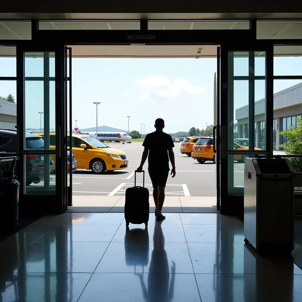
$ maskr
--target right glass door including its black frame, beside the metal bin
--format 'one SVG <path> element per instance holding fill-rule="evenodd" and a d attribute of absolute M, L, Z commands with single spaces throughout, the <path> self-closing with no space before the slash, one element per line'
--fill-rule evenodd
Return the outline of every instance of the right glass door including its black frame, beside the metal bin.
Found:
<path fill-rule="evenodd" d="M 272 133 L 268 131 L 271 128 L 272 132 L 272 125 L 267 118 L 272 114 L 272 89 L 267 90 L 266 85 L 268 61 L 265 49 L 262 46 L 258 50 L 236 51 L 236 47 L 221 47 L 221 112 L 227 114 L 221 114 L 220 170 L 224 171 L 221 190 L 226 195 L 243 195 L 246 158 L 252 154 L 270 154 L 272 149 Z"/>

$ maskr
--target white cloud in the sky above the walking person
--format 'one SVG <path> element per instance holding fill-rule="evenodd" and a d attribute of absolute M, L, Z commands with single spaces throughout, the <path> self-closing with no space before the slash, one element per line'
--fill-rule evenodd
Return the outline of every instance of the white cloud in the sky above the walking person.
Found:
<path fill-rule="evenodd" d="M 191 85 L 181 78 L 170 80 L 164 76 L 152 75 L 149 78 L 136 79 L 135 83 L 144 92 L 140 99 L 148 100 L 154 98 L 171 99 L 184 95 L 198 95 L 204 92 L 200 86 Z"/>

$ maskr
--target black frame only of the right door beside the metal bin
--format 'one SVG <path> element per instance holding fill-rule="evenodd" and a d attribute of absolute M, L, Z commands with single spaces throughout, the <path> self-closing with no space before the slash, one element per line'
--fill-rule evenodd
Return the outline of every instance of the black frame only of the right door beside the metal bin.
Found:
<path fill-rule="evenodd" d="M 265 51 L 265 150 L 252 152 L 272 156 L 273 141 L 273 55 L 274 43 L 268 40 L 257 40 L 250 43 L 222 43 L 220 52 L 220 211 L 221 214 L 236 214 L 239 217 L 243 215 L 242 194 L 229 194 L 228 192 L 228 155 L 236 154 L 228 150 L 228 93 L 229 93 L 229 52 L 237 51 Z M 249 63 L 250 64 L 250 63 Z M 249 68 L 251 66 L 249 65 Z M 255 103 L 255 101 L 253 101 Z M 250 106 L 252 107 L 252 106 Z M 249 127 L 251 128 L 251 127 Z M 251 130 L 251 129 L 250 129 Z M 253 130 L 253 128 L 252 128 Z M 237 152 L 238 153 L 238 152 Z M 249 153 L 251 151 L 240 151 L 240 153 Z M 217 191 L 218 193 L 218 191 Z"/>

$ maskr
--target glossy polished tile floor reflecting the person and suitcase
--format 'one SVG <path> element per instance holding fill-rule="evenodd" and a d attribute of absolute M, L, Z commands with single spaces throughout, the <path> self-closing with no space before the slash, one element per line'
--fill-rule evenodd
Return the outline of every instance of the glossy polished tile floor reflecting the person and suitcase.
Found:
<path fill-rule="evenodd" d="M 123 213 L 43 217 L 0 243 L 0 301 L 302 301 L 293 258 L 243 239 L 220 214 L 150 215 L 148 229 Z"/>

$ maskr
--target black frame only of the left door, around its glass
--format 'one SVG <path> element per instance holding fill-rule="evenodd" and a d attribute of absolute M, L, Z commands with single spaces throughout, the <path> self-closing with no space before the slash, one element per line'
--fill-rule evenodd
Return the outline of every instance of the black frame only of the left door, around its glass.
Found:
<path fill-rule="evenodd" d="M 56 189 L 55 194 L 26 194 L 25 192 L 25 169 L 24 156 L 32 151 L 24 150 L 25 133 L 25 52 L 53 52 L 55 53 L 55 127 L 56 127 L 56 150 L 38 150 L 37 154 L 56 155 Z M 37 43 L 35 41 L 22 41 L 16 43 L 16 73 L 17 73 L 17 152 L 20 155 L 17 174 L 21 183 L 20 188 L 20 212 L 22 214 L 60 214 L 66 208 L 67 178 L 67 153 L 64 145 L 65 140 L 65 115 L 64 115 L 64 58 L 65 48 L 63 44 Z M 33 198 L 34 196 L 34 198 Z M 39 198 L 40 197 L 40 198 Z"/>

